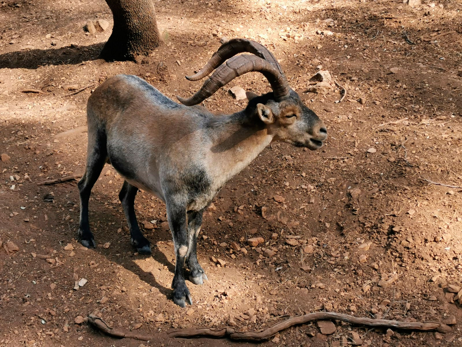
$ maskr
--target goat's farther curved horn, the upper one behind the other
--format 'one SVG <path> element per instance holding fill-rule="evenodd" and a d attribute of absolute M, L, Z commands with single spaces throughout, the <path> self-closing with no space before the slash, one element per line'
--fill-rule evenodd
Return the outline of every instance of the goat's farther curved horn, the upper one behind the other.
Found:
<path fill-rule="evenodd" d="M 274 65 L 274 67 L 279 70 L 280 74 L 284 74 L 276 58 L 274 58 L 273 54 L 265 46 L 245 38 L 235 38 L 223 43 L 197 74 L 186 76 L 186 78 L 189 81 L 199 81 L 208 76 L 214 69 L 219 67 L 226 60 L 242 52 L 249 52 L 255 54 L 255 56 L 259 56 Z"/>

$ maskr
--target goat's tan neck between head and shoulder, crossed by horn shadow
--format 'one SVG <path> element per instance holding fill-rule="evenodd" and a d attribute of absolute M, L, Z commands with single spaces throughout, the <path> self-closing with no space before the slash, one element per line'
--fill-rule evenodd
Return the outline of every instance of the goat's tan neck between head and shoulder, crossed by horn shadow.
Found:
<path fill-rule="evenodd" d="M 249 165 L 274 137 L 266 127 L 251 124 L 243 112 L 214 120 L 209 129 L 208 172 L 218 186 Z"/>

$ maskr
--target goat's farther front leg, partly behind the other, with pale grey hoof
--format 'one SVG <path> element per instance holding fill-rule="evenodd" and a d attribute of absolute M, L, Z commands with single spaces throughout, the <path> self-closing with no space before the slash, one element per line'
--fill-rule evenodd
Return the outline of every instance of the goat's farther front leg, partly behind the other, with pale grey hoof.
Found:
<path fill-rule="evenodd" d="M 197 261 L 197 236 L 201 231 L 203 211 L 188 211 L 188 254 L 186 255 L 186 264 L 189 268 L 189 280 L 195 285 L 207 281 L 207 275 L 204 269 Z"/>

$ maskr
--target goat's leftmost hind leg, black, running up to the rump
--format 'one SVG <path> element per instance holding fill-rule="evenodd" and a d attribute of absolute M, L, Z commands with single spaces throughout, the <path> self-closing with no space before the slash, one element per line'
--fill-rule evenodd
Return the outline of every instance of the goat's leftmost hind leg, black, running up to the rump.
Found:
<path fill-rule="evenodd" d="M 107 159 L 105 136 L 102 134 L 91 136 L 89 132 L 85 174 L 77 184 L 80 196 L 79 238 L 82 245 L 88 248 L 96 248 L 93 234 L 90 231 L 90 224 L 88 223 L 88 200 L 90 199 L 91 188 L 93 188 L 99 174 L 101 174 Z"/>

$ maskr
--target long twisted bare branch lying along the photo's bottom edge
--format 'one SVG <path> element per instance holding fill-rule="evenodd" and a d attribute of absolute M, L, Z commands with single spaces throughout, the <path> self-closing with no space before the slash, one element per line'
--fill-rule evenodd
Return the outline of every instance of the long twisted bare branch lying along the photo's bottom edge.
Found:
<path fill-rule="evenodd" d="M 334 319 L 337 321 L 349 322 L 352 324 L 366 325 L 371 327 L 383 327 L 383 328 L 398 328 L 402 330 L 419 330 L 419 331 L 432 331 L 437 330 L 440 333 L 449 333 L 452 329 L 446 324 L 439 322 L 398 322 L 385 319 L 371 319 L 371 318 L 360 318 L 350 315 L 345 315 L 342 313 L 335 312 L 314 312 L 309 313 L 304 316 L 296 316 L 288 318 L 280 323 L 275 324 L 274 326 L 267 328 L 266 330 L 256 332 L 256 331 L 246 331 L 244 333 L 238 333 L 233 328 L 225 327 L 219 330 L 213 330 L 210 328 L 190 328 L 184 330 L 173 330 L 170 331 L 168 337 L 183 337 L 183 338 L 192 338 L 192 337 L 228 337 L 231 340 L 238 341 L 266 341 L 279 333 L 280 331 L 290 328 L 293 325 L 304 324 L 311 321 L 324 320 L 324 319 Z M 154 335 L 144 335 L 144 334 L 135 334 L 129 330 L 120 329 L 120 328 L 110 328 L 103 319 L 90 315 L 88 316 L 88 322 L 93 325 L 95 328 L 103 331 L 105 334 L 120 337 L 120 338 L 132 338 L 141 341 L 149 341 L 155 338 Z"/>

